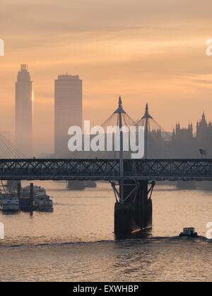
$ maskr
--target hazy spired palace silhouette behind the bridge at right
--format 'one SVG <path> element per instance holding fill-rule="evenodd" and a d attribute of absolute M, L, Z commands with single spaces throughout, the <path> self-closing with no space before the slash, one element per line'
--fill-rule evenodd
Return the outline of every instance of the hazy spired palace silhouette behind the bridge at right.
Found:
<path fill-rule="evenodd" d="M 196 132 L 192 123 L 187 128 L 177 123 L 169 140 L 165 140 L 163 133 L 161 129 L 150 132 L 148 158 L 212 157 L 212 122 L 207 122 L 205 113 L 196 123 Z"/>

